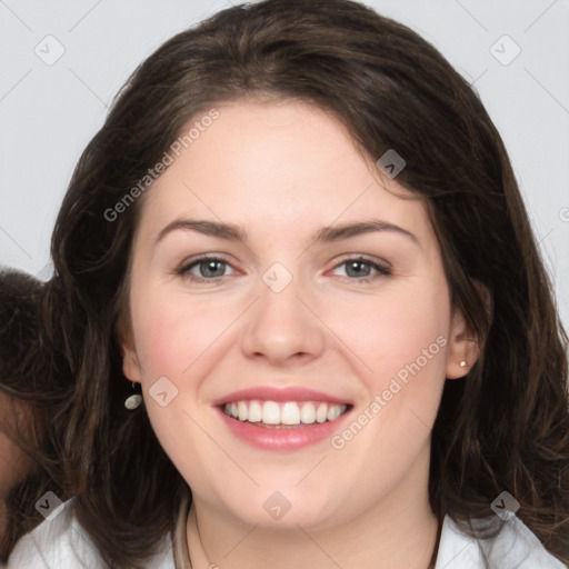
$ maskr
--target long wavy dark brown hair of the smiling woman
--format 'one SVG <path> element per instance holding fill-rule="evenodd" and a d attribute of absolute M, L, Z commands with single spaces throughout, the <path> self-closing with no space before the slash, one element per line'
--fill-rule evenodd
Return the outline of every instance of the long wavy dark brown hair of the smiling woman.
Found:
<path fill-rule="evenodd" d="M 106 561 L 141 567 L 172 530 L 184 488 L 144 409 L 123 408 L 116 331 L 137 197 L 152 191 L 140 180 L 190 119 L 251 97 L 313 103 L 373 160 L 396 149 L 407 161 L 397 181 L 427 200 L 452 303 L 480 349 L 466 380 L 445 386 L 432 510 L 475 533 L 468 520 L 498 519 L 490 505 L 507 490 L 517 516 L 569 562 L 568 339 L 506 148 L 431 44 L 349 0 L 237 6 L 179 33 L 136 70 L 79 160 L 52 239 L 64 296 L 49 312 L 77 379 L 64 446 L 78 517 Z"/>

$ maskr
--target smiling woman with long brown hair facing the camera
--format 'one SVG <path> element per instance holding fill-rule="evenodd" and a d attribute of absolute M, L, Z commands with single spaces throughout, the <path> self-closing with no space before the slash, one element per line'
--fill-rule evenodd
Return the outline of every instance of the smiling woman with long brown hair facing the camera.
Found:
<path fill-rule="evenodd" d="M 76 497 L 9 567 L 569 561 L 567 336 L 496 128 L 406 27 L 268 0 L 172 38 L 52 256 Z"/>

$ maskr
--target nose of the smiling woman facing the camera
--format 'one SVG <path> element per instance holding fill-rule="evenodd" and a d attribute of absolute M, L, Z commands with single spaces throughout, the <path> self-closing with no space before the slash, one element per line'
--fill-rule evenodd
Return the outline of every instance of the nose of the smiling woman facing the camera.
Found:
<path fill-rule="evenodd" d="M 318 358 L 326 343 L 326 326 L 316 297 L 296 278 L 280 291 L 267 282 L 260 281 L 259 298 L 247 311 L 243 353 L 280 367 Z"/>

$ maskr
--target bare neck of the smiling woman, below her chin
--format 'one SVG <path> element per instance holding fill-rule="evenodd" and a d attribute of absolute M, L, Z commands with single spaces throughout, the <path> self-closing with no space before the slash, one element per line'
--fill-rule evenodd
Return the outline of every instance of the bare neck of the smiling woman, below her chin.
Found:
<path fill-rule="evenodd" d="M 427 472 L 425 482 L 428 466 L 428 459 L 423 460 L 413 465 L 410 473 Z M 308 530 L 298 523 L 277 529 L 248 526 L 198 497 L 187 523 L 192 569 L 430 569 L 435 567 L 438 532 L 427 483 L 418 485 L 413 476 L 349 521 L 321 529 Z"/>

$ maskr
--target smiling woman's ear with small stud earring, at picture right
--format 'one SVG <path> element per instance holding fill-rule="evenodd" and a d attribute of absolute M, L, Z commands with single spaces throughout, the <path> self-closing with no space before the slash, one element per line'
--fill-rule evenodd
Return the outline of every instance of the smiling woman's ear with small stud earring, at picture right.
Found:
<path fill-rule="evenodd" d="M 486 310 L 491 313 L 492 300 L 489 290 L 479 281 L 475 281 L 473 284 L 485 302 Z M 462 378 L 472 369 L 480 355 L 478 342 L 479 339 L 468 326 L 465 315 L 456 309 L 452 313 L 452 329 L 447 351 L 447 379 Z"/>

